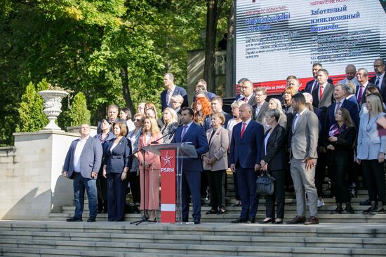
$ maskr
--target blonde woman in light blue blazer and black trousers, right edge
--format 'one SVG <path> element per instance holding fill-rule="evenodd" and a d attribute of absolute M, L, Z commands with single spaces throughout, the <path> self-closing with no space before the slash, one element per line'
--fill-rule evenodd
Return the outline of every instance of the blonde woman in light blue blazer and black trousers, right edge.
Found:
<path fill-rule="evenodd" d="M 385 116 L 382 102 L 376 95 L 366 97 L 368 113 L 361 114 L 359 125 L 357 162 L 362 164 L 371 207 L 364 214 L 383 213 L 385 202 L 385 172 L 383 162 L 386 153 L 386 137 L 379 136 L 376 121 Z M 378 201 L 378 206 L 375 202 Z"/>

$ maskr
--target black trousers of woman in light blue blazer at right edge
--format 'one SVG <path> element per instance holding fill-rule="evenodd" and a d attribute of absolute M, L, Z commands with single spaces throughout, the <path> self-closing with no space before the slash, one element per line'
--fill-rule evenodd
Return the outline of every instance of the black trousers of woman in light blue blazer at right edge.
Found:
<path fill-rule="evenodd" d="M 385 171 L 383 162 L 377 160 L 361 160 L 366 177 L 368 197 L 371 201 L 385 202 Z"/>

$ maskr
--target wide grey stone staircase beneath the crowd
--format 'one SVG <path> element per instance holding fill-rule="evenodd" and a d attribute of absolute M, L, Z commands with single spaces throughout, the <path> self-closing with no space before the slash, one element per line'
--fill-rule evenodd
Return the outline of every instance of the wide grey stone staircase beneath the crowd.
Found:
<path fill-rule="evenodd" d="M 227 212 L 207 215 L 210 207 L 202 207 L 199 225 L 128 222 L 141 214 L 126 214 L 121 223 L 107 222 L 107 214 L 96 223 L 65 222 L 74 207 L 47 221 L 0 221 L 0 256 L 386 256 L 386 214 L 361 213 L 365 190 L 352 199 L 355 214 L 331 215 L 335 200 L 324 197 L 319 225 L 232 224 L 241 207 L 233 207 L 229 174 L 228 190 Z M 295 197 L 286 193 L 284 220 L 293 216 Z M 256 218 L 264 217 L 261 198 Z"/>

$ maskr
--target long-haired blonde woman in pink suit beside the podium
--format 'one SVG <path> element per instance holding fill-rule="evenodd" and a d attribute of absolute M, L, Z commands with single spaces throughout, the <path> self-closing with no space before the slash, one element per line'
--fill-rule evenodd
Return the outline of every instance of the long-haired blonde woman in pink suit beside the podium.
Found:
<path fill-rule="evenodd" d="M 162 144 L 161 132 L 157 125 L 155 118 L 145 118 L 143 132 L 139 140 L 139 149 L 148 146 L 152 141 Z M 159 140 L 160 139 L 160 140 Z M 138 159 L 140 160 L 140 190 L 141 190 L 141 204 L 140 209 L 145 209 L 145 216 L 148 218 L 149 214 L 147 210 L 152 210 L 149 220 L 155 221 L 156 210 L 159 209 L 159 171 L 161 169 L 161 163 L 159 161 L 159 155 L 145 152 L 145 158 L 143 152 L 138 153 Z M 145 178 L 143 176 L 143 166 L 145 165 Z M 145 188 L 143 188 L 143 180 L 145 179 Z M 145 204 L 144 204 L 145 202 Z"/>

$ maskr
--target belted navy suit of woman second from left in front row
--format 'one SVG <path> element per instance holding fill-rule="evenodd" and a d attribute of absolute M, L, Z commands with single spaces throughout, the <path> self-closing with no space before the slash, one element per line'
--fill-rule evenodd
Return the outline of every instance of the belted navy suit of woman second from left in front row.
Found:
<path fill-rule="evenodd" d="M 121 176 L 125 167 L 131 167 L 131 142 L 122 137 L 112 151 L 115 139 L 109 141 L 105 153 L 105 165 L 107 165 L 107 212 L 109 221 L 124 221 L 126 190 L 128 179 L 122 181 Z"/>

